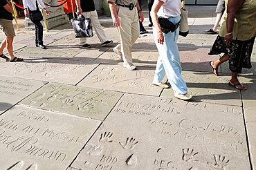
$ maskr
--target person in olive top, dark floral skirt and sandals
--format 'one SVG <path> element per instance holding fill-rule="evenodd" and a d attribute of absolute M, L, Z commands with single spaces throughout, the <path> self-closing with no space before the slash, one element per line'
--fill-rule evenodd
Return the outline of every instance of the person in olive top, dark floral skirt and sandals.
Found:
<path fill-rule="evenodd" d="M 229 62 L 231 79 L 228 84 L 238 90 L 246 91 L 247 87 L 240 84 L 238 74 L 242 68 L 251 68 L 250 57 L 256 36 L 256 3 L 255 0 L 226 0 L 227 10 L 219 35 L 214 41 L 208 55 L 224 55 L 210 62 L 214 75 L 219 75 L 218 67 Z"/>

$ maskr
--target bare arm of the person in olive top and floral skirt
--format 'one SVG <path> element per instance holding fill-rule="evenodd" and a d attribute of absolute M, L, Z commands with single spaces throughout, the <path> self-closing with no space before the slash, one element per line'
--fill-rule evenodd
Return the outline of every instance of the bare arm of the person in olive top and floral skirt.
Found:
<path fill-rule="evenodd" d="M 228 1 L 228 6 L 227 6 L 227 21 L 226 21 L 226 36 L 225 36 L 225 41 L 226 44 L 229 45 L 232 41 L 232 31 L 234 27 L 234 22 L 235 22 L 235 14 L 237 13 L 237 10 L 241 7 L 241 4 L 244 3 L 244 0 L 229 0 Z"/>

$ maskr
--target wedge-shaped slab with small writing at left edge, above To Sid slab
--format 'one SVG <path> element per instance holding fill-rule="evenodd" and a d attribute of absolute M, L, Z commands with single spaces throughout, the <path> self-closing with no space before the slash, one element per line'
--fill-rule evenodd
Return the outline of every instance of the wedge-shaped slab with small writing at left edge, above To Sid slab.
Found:
<path fill-rule="evenodd" d="M 46 82 L 0 76 L 0 115 Z"/>

